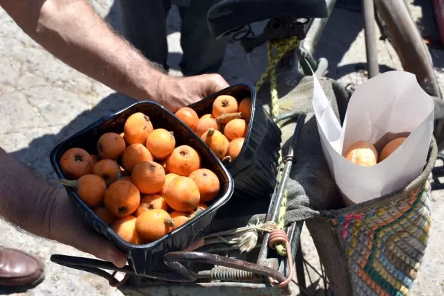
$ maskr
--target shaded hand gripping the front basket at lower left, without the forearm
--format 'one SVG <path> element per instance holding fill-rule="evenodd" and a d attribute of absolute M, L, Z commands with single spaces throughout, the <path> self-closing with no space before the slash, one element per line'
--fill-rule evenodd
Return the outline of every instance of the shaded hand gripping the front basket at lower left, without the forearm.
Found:
<path fill-rule="evenodd" d="M 43 224 L 49 229 L 44 232 L 47 238 L 110 261 L 117 267 L 124 267 L 126 255 L 81 220 L 65 191 L 54 188 L 46 198 L 50 200 Z"/>

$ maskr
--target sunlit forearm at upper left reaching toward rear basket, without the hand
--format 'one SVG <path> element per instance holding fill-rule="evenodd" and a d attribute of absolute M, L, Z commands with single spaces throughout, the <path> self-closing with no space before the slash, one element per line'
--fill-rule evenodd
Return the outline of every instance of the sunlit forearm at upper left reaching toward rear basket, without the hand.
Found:
<path fill-rule="evenodd" d="M 0 0 L 0 5 L 25 33 L 69 66 L 117 92 L 158 101 L 164 74 L 85 0 Z"/>

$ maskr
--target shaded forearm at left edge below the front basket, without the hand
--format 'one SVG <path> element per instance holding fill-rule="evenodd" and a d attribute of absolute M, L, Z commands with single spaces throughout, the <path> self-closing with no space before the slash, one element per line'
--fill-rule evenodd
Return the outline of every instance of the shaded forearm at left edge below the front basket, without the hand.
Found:
<path fill-rule="evenodd" d="M 56 190 L 0 148 L 0 218 L 49 237 Z"/>

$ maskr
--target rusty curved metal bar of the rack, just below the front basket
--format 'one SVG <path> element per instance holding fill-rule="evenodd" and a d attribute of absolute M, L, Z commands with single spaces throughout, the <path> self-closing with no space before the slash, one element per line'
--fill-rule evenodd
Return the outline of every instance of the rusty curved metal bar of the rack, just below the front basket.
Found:
<path fill-rule="evenodd" d="M 167 265 L 172 270 L 178 272 L 183 277 L 188 277 L 188 279 L 192 281 L 195 281 L 198 277 L 196 272 L 188 270 L 185 266 L 179 263 L 179 261 L 208 263 L 211 265 L 224 266 L 227 268 L 246 270 L 254 273 L 255 275 L 263 275 L 265 277 L 270 277 L 272 279 L 275 279 L 279 283 L 286 280 L 286 277 L 284 277 L 281 274 L 281 272 L 274 270 L 272 268 L 268 268 L 266 266 L 259 265 L 256 263 L 231 259 L 216 254 L 183 251 L 183 252 L 170 252 L 165 254 L 165 256 L 163 256 L 163 262 L 165 263 L 165 265 Z"/>

